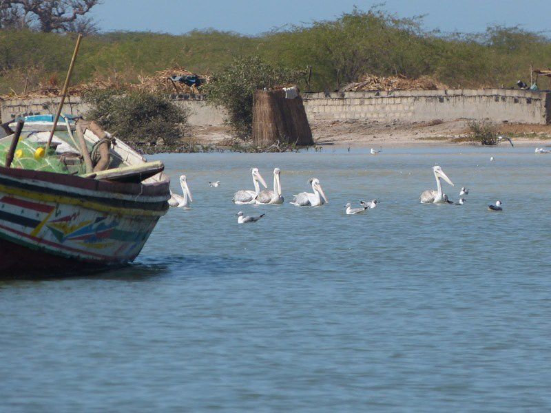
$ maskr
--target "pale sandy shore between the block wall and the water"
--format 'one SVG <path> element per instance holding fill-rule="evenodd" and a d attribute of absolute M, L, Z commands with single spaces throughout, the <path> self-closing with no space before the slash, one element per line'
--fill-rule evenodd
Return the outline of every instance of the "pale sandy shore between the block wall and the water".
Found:
<path fill-rule="evenodd" d="M 473 145 L 468 120 L 429 123 L 376 123 L 361 121 L 324 121 L 311 124 L 316 145 L 340 147 L 399 147 L 417 145 Z M 551 125 L 502 123 L 499 133 L 510 136 L 515 145 L 551 146 Z M 194 127 L 187 140 L 202 145 L 223 145 L 231 140 L 227 127 Z"/>

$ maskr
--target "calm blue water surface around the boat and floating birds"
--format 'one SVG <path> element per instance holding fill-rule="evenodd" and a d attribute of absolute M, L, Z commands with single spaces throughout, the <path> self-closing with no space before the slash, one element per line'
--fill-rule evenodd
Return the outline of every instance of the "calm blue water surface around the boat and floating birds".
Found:
<path fill-rule="evenodd" d="M 551 409 L 551 156 L 156 158 L 195 202 L 134 265 L 0 282 L 2 412 Z M 451 199 L 471 189 L 464 207 L 418 203 L 435 162 Z M 329 204 L 233 205 L 253 166 L 270 187 L 282 169 L 286 202 L 316 176 Z M 344 215 L 371 198 L 380 207 Z M 486 211 L 497 199 L 505 211 Z M 267 215 L 238 226 L 240 209 Z"/>

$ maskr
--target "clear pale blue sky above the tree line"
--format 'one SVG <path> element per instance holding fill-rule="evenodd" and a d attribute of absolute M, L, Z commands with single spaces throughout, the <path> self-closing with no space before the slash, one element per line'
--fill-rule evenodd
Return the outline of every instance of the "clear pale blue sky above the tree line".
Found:
<path fill-rule="evenodd" d="M 258 34 L 286 24 L 333 19 L 370 0 L 103 0 L 93 9 L 101 30 L 149 30 L 180 34 L 215 28 Z M 444 32 L 480 32 L 488 24 L 550 28 L 551 0 L 387 0 L 400 17 L 426 14 L 425 27 Z"/>

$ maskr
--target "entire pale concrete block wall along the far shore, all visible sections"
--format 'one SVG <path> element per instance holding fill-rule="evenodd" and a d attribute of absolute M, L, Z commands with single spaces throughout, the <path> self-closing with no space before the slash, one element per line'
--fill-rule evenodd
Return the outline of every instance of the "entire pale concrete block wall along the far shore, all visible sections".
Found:
<path fill-rule="evenodd" d="M 426 122 L 435 119 L 485 119 L 511 123 L 551 123 L 551 92 L 520 89 L 457 89 L 304 93 L 304 108 L 315 120 L 377 120 Z M 190 110 L 194 126 L 221 126 L 225 114 L 206 105 L 203 96 L 174 96 Z M 59 98 L 0 100 L 2 122 L 25 114 L 55 113 Z M 87 105 L 78 97 L 65 100 L 63 113 L 79 115 Z"/>

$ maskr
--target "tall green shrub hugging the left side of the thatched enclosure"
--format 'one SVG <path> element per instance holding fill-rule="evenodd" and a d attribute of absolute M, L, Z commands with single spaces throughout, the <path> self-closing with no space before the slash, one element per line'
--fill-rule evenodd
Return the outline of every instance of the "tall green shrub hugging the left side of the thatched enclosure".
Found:
<path fill-rule="evenodd" d="M 300 76 L 301 72 L 272 65 L 260 56 L 245 56 L 222 67 L 203 90 L 209 104 L 226 109 L 233 136 L 248 139 L 253 125 L 253 93 L 264 87 L 296 83 Z"/>

